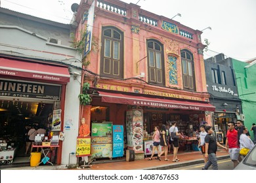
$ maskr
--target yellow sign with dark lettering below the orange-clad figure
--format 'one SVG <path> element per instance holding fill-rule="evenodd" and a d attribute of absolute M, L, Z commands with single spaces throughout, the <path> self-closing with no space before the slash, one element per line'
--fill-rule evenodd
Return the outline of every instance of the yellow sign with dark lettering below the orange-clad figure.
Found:
<path fill-rule="evenodd" d="M 90 137 L 77 137 L 76 140 L 76 154 L 77 156 L 91 155 L 91 138 Z"/>

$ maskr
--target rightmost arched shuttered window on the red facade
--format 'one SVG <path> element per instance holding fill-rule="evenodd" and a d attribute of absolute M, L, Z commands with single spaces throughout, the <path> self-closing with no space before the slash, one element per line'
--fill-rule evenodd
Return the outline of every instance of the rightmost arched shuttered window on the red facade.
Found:
<path fill-rule="evenodd" d="M 181 50 L 183 87 L 188 90 L 196 90 L 194 78 L 194 59 L 191 52 Z"/>

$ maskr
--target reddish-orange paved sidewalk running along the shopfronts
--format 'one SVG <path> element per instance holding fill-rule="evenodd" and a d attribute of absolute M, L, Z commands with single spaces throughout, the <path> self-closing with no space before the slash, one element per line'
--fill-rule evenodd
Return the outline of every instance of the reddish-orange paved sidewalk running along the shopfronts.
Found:
<path fill-rule="evenodd" d="M 155 158 L 155 157 L 154 157 Z M 81 169 L 76 168 L 72 170 L 163 170 L 163 169 L 174 169 L 177 167 L 184 167 L 188 165 L 194 165 L 198 163 L 203 163 L 203 157 L 201 152 L 192 151 L 192 152 L 179 152 L 178 158 L 179 162 L 172 162 L 173 154 L 168 154 L 168 159 L 170 161 L 163 161 L 164 157 L 161 157 L 161 161 L 158 159 L 154 159 L 152 161 L 148 161 L 148 158 L 135 160 L 135 161 L 118 161 L 111 163 L 97 163 L 91 165 L 90 168 Z M 225 150 L 217 151 L 217 158 L 219 159 L 227 159 L 229 158 L 228 153 Z M 231 161 L 231 160 L 230 160 Z M 66 165 L 39 165 L 38 167 L 9 167 L 3 170 L 64 170 L 68 169 Z"/>

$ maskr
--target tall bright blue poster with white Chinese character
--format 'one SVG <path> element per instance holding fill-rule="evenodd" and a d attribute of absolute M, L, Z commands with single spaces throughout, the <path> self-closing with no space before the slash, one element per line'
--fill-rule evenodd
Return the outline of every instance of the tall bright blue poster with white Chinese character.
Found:
<path fill-rule="evenodd" d="M 113 125 L 113 158 L 123 157 L 123 125 Z"/>

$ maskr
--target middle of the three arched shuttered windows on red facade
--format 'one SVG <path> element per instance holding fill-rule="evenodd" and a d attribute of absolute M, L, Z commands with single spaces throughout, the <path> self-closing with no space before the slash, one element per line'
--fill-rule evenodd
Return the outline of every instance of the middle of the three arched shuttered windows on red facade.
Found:
<path fill-rule="evenodd" d="M 163 86 L 164 63 L 163 63 L 163 45 L 155 40 L 146 42 L 148 48 L 148 82 Z"/>

